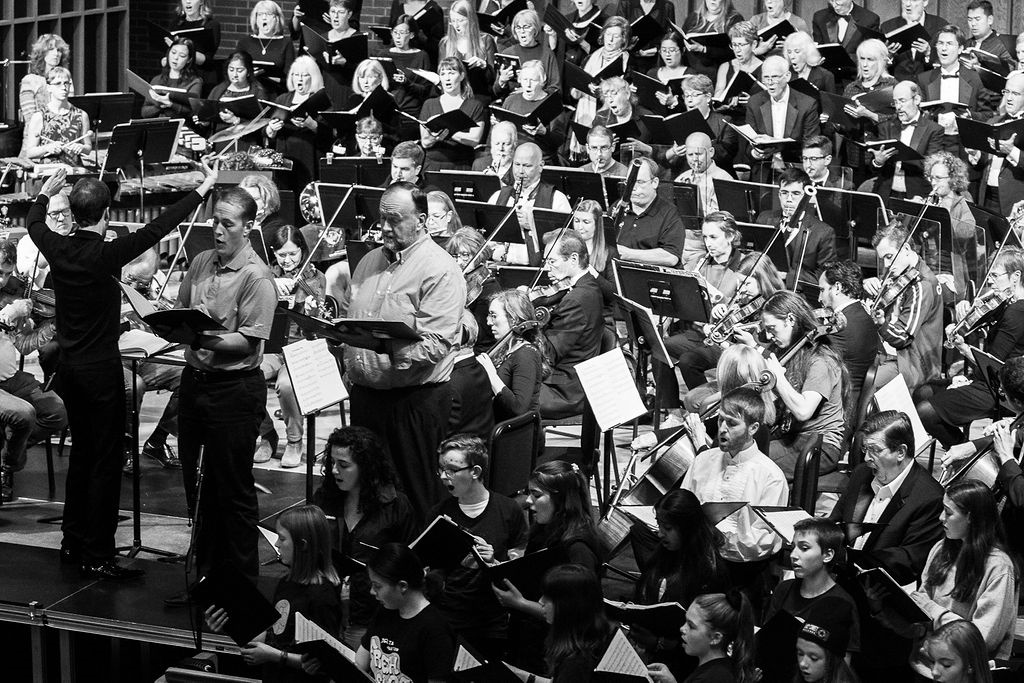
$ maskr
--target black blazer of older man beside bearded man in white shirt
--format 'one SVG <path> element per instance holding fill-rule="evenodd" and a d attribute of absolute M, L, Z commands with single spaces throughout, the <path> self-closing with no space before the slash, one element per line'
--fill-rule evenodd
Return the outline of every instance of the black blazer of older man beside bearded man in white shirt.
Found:
<path fill-rule="evenodd" d="M 863 521 L 867 506 L 874 498 L 873 476 L 867 465 L 857 465 L 829 519 L 848 524 Z M 929 551 L 942 539 L 941 511 L 942 486 L 924 467 L 913 463 L 903 484 L 879 518 L 879 523 L 885 526 L 871 532 L 864 544 L 864 552 L 885 566 L 900 584 L 920 579 Z M 860 536 L 855 525 L 848 526 L 846 533 L 847 543 L 851 545 Z"/>

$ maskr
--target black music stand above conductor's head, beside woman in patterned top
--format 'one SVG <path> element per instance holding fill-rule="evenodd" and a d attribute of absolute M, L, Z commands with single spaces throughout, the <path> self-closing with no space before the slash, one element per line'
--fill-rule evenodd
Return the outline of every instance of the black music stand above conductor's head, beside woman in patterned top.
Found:
<path fill-rule="evenodd" d="M 102 178 L 106 168 L 113 167 L 126 176 L 128 170 L 138 174 L 138 205 L 145 213 L 145 165 L 166 164 L 178 145 L 183 119 L 138 119 L 123 123 L 111 130 L 111 143 L 106 158 L 99 169 Z"/>

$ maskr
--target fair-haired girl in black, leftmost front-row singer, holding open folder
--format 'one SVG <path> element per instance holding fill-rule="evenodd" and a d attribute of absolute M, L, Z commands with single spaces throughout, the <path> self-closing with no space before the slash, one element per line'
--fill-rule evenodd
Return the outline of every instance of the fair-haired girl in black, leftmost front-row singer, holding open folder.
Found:
<path fill-rule="evenodd" d="M 273 591 L 281 620 L 242 648 L 246 664 L 263 667 L 264 681 L 314 680 L 303 673 L 304 657 L 289 652 L 295 644 L 297 613 L 332 635 L 338 633 L 341 582 L 331 561 L 329 528 L 324 511 L 315 505 L 286 510 L 278 518 L 278 552 L 288 567 Z M 216 605 L 206 610 L 207 626 L 215 633 L 223 630 L 227 620 L 226 612 Z"/>

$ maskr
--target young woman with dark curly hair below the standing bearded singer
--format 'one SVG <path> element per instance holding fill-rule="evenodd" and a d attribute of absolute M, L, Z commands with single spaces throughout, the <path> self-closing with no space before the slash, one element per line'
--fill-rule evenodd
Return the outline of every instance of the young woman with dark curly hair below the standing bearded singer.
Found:
<path fill-rule="evenodd" d="M 322 475 L 313 503 L 335 518 L 332 541 L 345 557 L 365 563 L 374 548 L 416 538 L 416 511 L 399 490 L 391 457 L 374 432 L 365 427 L 335 429 L 327 440 Z M 342 640 L 355 649 L 377 601 L 366 569 L 350 570 L 348 581 Z"/>

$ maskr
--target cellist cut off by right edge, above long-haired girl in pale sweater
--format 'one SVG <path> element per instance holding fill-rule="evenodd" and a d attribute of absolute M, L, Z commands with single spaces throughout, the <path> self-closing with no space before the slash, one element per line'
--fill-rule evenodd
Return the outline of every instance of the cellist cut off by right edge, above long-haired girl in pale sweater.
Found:
<path fill-rule="evenodd" d="M 967 464 L 966 458 L 987 452 L 986 459 L 996 468 L 993 488 L 1006 496 L 1000 515 L 1002 523 L 1007 528 L 1019 529 L 1024 520 L 1024 472 L 1018 460 L 1021 437 L 1024 436 L 1024 430 L 1018 426 L 1021 415 L 1024 415 L 1024 357 L 1008 359 L 999 368 L 998 382 L 1014 416 L 993 422 L 985 428 L 981 438 L 949 447 L 942 464 L 955 470 Z M 982 463 L 982 467 L 984 465 Z M 1008 541 L 1018 554 L 1024 549 L 1024 540 L 1019 533 L 1011 533 Z"/>

